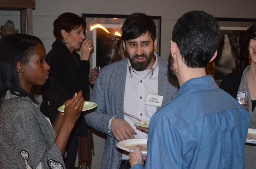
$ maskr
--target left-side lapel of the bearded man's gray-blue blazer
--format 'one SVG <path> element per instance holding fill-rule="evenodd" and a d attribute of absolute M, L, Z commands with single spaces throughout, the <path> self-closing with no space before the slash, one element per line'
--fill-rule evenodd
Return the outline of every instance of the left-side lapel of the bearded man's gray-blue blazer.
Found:
<path fill-rule="evenodd" d="M 124 119 L 124 90 L 126 81 L 128 58 L 121 61 L 116 69 L 116 98 L 120 118 Z"/>

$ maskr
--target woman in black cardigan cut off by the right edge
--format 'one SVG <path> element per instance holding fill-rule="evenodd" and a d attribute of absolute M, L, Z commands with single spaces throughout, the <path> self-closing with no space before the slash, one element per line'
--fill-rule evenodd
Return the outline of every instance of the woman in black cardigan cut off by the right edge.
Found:
<path fill-rule="evenodd" d="M 235 99 L 239 97 L 248 97 L 248 111 L 251 115 L 250 128 L 256 129 L 256 21 L 247 29 L 244 38 L 244 45 L 247 49 L 250 65 L 237 72 L 229 73 L 220 84 L 220 88 L 231 94 Z M 241 95 L 241 94 L 240 94 Z M 256 145 L 245 144 L 244 147 L 244 165 L 245 169 L 255 169 L 256 166 Z"/>

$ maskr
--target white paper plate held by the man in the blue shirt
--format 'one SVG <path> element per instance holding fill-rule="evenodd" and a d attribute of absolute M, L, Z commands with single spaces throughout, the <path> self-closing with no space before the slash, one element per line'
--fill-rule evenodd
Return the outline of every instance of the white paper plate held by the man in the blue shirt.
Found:
<path fill-rule="evenodd" d="M 116 146 L 122 150 L 133 152 L 133 149 L 137 144 L 142 145 L 143 149 L 141 150 L 143 155 L 147 155 L 148 153 L 148 138 L 133 138 L 128 140 L 120 141 L 116 144 Z"/>

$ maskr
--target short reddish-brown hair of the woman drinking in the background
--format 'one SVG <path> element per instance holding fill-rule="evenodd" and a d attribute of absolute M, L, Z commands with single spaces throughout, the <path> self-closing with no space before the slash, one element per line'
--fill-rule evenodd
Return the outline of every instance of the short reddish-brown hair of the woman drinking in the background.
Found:
<path fill-rule="evenodd" d="M 77 29 L 80 25 L 82 25 L 83 29 L 86 28 L 85 20 L 83 18 L 70 12 L 62 13 L 53 22 L 53 35 L 56 39 L 63 40 L 60 33 L 61 29 L 64 29 L 67 33 L 69 33 L 70 31 Z"/>

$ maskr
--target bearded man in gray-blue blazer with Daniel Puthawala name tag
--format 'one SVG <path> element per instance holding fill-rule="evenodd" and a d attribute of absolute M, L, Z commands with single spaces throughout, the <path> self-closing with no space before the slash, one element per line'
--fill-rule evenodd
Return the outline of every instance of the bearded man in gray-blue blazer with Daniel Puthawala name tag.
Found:
<path fill-rule="evenodd" d="M 124 112 L 149 121 L 177 93 L 177 81 L 168 78 L 168 63 L 154 52 L 154 21 L 146 14 L 133 13 L 122 31 L 127 58 L 100 70 L 90 99 L 97 103 L 97 110 L 85 115 L 89 126 L 107 134 L 101 163 L 107 169 L 130 168 L 129 157 L 116 147 L 119 141 L 148 137 L 147 129 L 135 127 L 138 120 Z"/>

